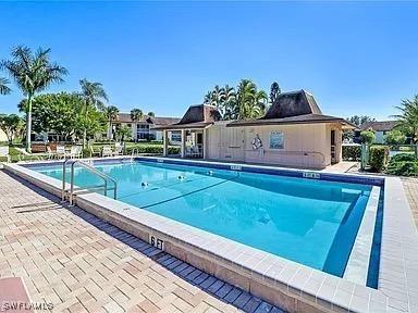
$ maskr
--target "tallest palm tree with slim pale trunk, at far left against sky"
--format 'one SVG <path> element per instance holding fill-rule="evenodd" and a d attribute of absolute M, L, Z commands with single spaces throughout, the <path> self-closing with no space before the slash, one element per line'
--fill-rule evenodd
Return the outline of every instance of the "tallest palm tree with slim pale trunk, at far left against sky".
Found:
<path fill-rule="evenodd" d="M 5 68 L 27 99 L 26 112 L 26 150 L 30 152 L 32 100 L 36 93 L 46 90 L 53 83 L 63 82 L 67 74 L 65 67 L 50 61 L 51 49 L 39 48 L 35 53 L 25 46 L 12 51 L 12 60 L 3 60 Z"/>

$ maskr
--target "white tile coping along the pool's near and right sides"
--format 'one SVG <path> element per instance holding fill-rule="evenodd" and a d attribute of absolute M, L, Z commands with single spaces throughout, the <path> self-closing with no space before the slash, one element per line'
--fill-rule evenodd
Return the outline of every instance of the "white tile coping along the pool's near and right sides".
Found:
<path fill-rule="evenodd" d="M 187 162 L 190 163 L 189 160 Z M 61 196 L 61 181 L 56 178 L 19 164 L 5 164 L 4 170 Z M 373 192 L 377 190 L 372 190 Z M 370 201 L 374 200 L 369 199 Z M 184 261 L 197 267 L 201 265 L 210 274 L 276 303 L 288 312 L 418 312 L 418 234 L 402 181 L 396 177 L 385 178 L 378 289 L 335 277 L 98 193 L 79 195 L 76 204 L 143 239 L 148 240 L 144 237 L 155 235 L 164 240 L 169 253 L 177 254 L 175 256 L 181 254 L 180 256 L 186 259 Z M 366 215 L 365 213 L 365 217 Z M 370 230 L 368 223 L 365 226 L 362 224 L 364 221 L 359 236 L 362 233 L 367 235 Z M 357 241 L 353 252 L 356 251 L 356 246 Z M 359 250 L 361 251 L 361 245 Z M 351 259 L 352 255 L 348 263 L 353 262 Z M 357 278 L 351 280 L 358 279 L 358 273 L 353 277 Z"/>

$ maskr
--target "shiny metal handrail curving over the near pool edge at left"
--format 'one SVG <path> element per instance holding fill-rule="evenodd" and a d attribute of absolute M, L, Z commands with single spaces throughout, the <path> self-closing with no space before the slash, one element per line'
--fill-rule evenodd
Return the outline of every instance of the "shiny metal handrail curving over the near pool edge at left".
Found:
<path fill-rule="evenodd" d="M 62 201 L 65 201 L 65 193 L 66 193 L 66 181 L 65 181 L 65 174 L 66 174 L 66 164 L 69 162 L 72 162 L 71 163 L 71 176 L 70 176 L 70 204 L 73 204 L 73 200 L 74 200 L 74 191 L 76 190 L 84 190 L 84 189 L 88 189 L 88 188 L 75 188 L 74 189 L 74 165 L 75 164 L 78 164 L 81 165 L 82 167 L 88 170 L 91 174 L 95 174 L 97 176 L 99 176 L 100 178 L 103 179 L 103 186 L 94 186 L 94 189 L 102 189 L 104 191 L 104 196 L 108 196 L 108 190 L 113 190 L 113 199 L 116 199 L 118 197 L 118 183 L 115 179 L 113 179 L 112 177 L 110 177 L 109 175 L 106 175 L 104 173 L 96 170 L 95 167 L 93 167 L 91 165 L 85 163 L 84 161 L 82 160 L 72 160 L 72 159 L 67 159 L 64 161 L 64 163 L 62 164 Z M 111 180 L 113 183 L 113 187 L 112 188 L 108 188 L 108 180 Z"/>

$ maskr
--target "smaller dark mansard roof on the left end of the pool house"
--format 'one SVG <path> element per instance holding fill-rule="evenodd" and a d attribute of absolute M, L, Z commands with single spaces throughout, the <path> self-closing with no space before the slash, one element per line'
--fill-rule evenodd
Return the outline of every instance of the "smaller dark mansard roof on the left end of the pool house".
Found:
<path fill-rule="evenodd" d="M 158 127 L 158 129 L 205 128 L 221 120 L 221 113 L 213 105 L 197 104 L 187 109 L 177 123 Z"/>

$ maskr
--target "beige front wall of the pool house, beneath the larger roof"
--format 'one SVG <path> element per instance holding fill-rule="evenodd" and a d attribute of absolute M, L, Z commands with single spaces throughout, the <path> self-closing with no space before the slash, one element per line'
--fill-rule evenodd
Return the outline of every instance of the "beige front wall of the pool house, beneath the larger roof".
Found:
<path fill-rule="evenodd" d="M 341 127 L 332 124 L 225 127 L 216 123 L 208 128 L 207 158 L 286 166 L 325 167 L 331 164 L 331 129 L 335 129 L 336 162 L 341 161 Z M 270 147 L 271 133 L 283 134 L 283 148 Z M 253 149 L 258 134 L 262 148 Z M 280 135 L 281 136 L 281 135 Z"/>

